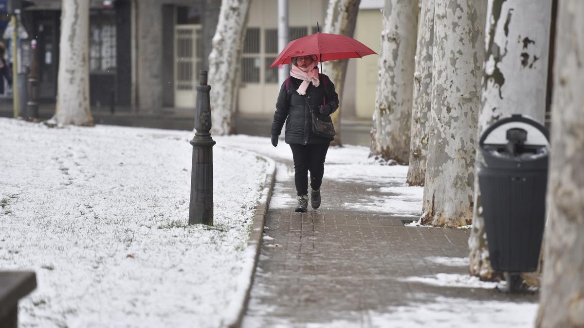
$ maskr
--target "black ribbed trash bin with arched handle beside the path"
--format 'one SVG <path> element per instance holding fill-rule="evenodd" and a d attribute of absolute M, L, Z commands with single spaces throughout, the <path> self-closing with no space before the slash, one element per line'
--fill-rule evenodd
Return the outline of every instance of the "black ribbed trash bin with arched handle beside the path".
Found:
<path fill-rule="evenodd" d="M 549 133 L 531 118 L 512 115 L 488 127 L 479 148 L 491 267 L 507 277 L 536 271 L 545 225 Z"/>

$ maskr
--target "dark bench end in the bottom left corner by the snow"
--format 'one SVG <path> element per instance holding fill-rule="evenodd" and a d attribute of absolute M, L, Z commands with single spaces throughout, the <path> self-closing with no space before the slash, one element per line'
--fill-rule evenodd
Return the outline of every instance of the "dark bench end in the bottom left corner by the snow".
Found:
<path fill-rule="evenodd" d="M 0 327 L 18 328 L 18 300 L 34 288 L 34 272 L 0 271 Z"/>

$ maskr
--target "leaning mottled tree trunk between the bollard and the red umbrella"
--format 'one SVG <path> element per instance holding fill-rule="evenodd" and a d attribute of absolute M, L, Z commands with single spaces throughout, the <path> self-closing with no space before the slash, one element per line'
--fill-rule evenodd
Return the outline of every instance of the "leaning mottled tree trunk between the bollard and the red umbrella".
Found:
<path fill-rule="evenodd" d="M 234 130 L 235 99 L 250 0 L 223 0 L 213 50 L 209 55 L 208 84 L 211 86 L 211 133 L 231 134 Z"/>

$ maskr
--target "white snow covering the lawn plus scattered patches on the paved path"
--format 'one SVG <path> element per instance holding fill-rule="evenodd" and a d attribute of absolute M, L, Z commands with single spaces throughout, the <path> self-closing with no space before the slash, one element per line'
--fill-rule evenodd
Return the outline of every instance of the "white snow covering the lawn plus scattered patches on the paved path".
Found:
<path fill-rule="evenodd" d="M 268 138 L 214 136 L 215 226 L 187 226 L 192 137 L 189 131 L 54 129 L 0 118 L 0 270 L 34 270 L 39 282 L 19 304 L 22 327 L 220 327 L 232 317 L 226 309 L 237 308 L 232 301 L 245 283 L 253 205 L 270 165 L 253 153 L 279 162 L 272 208 L 296 202 L 296 192 L 282 183 L 293 179 L 283 163 L 292 153 L 283 140 L 273 148 Z M 361 146 L 329 149 L 326 179 L 392 186 L 368 190 L 388 197 L 370 195 L 344 206 L 415 219 L 423 190 L 402 187 L 407 167 L 378 165 L 368 155 Z M 492 288 L 467 275 L 399 279 Z M 530 327 L 537 310 L 527 302 L 425 299 L 369 312 L 366 326 Z M 306 325 L 353 326 L 342 320 Z"/>

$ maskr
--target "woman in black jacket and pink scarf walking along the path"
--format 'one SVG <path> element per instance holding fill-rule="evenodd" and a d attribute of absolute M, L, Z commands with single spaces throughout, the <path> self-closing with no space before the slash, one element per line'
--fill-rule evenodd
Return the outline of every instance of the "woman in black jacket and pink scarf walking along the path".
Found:
<path fill-rule="evenodd" d="M 290 77 L 282 83 L 272 123 L 272 145 L 286 122 L 284 141 L 290 145 L 294 159 L 294 184 L 298 196 L 296 212 L 308 208 L 308 171 L 310 171 L 310 203 L 321 205 L 321 184 L 326 151 L 334 137 L 319 137 L 312 131 L 311 111 L 329 116 L 339 107 L 339 96 L 328 76 L 318 74 L 316 55 L 291 58 Z M 324 102 L 324 104 L 323 104 Z"/>

